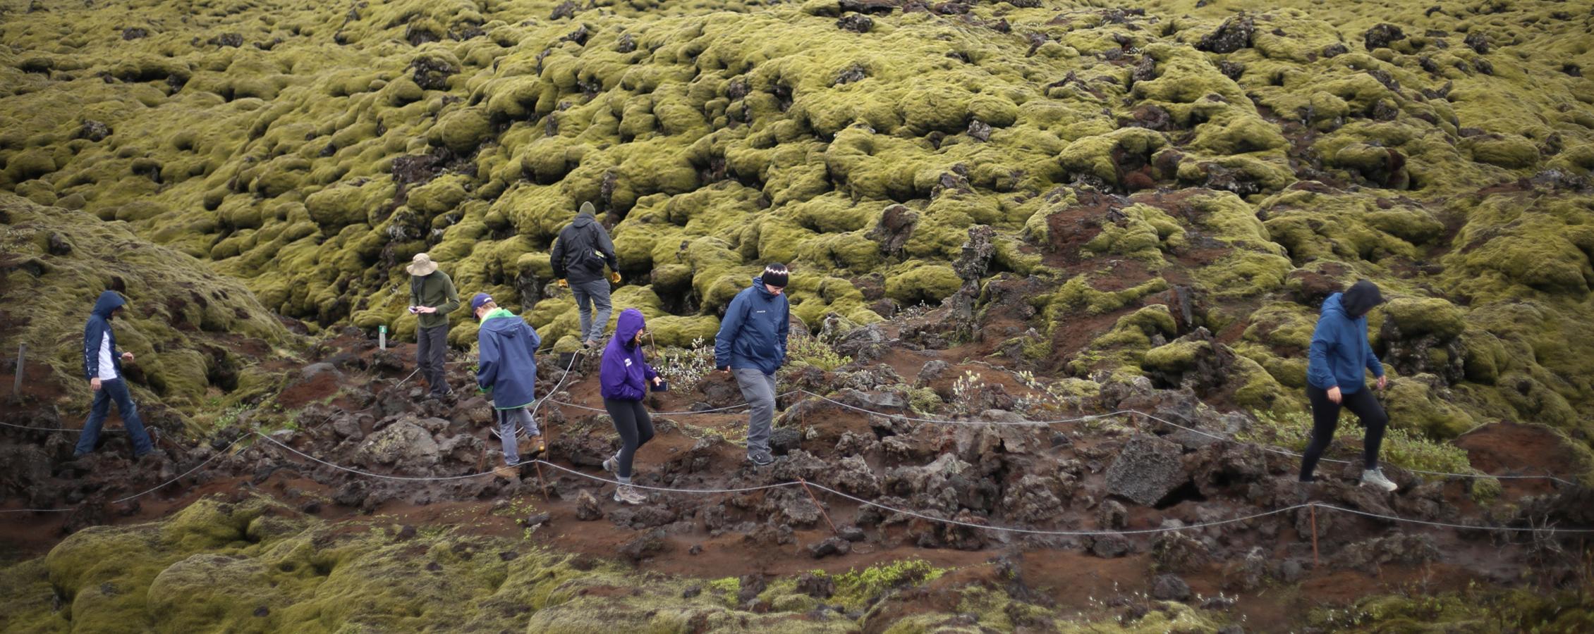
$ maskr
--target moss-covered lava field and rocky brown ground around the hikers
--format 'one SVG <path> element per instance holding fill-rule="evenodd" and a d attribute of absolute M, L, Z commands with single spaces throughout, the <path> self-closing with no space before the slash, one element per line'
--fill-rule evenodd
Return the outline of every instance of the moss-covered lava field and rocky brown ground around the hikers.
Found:
<path fill-rule="evenodd" d="M 615 508 L 552 465 L 383 481 L 273 440 L 489 470 L 481 403 L 414 403 L 408 347 L 373 331 L 413 336 L 398 264 L 426 250 L 569 352 L 547 247 L 590 199 L 682 389 L 660 411 L 733 405 L 692 346 L 768 260 L 813 335 L 784 389 L 845 403 L 783 398 L 786 462 L 757 472 L 735 413 L 662 416 L 647 484 L 805 478 L 1035 530 L 1304 499 L 1589 526 L 1591 33 L 1548 0 L 0 2 L 0 384 L 29 346 L 0 422 L 78 425 L 73 338 L 116 288 L 163 430 L 140 465 L 115 433 L 72 462 L 70 432 L 0 432 L 0 507 L 73 508 L 3 516 L 0 623 L 1583 629 L 1588 550 L 1546 534 L 1318 510 L 1313 566 L 1304 508 L 1023 537 L 794 487 Z M 1315 311 L 1358 277 L 1393 298 L 1371 330 L 1406 487 L 1294 491 L 1262 446 L 1302 444 Z M 614 443 L 591 371 L 540 411 L 588 475 Z M 1239 443 L 881 416 L 1114 409 Z M 1567 483 L 1473 478 L 1527 473 Z"/>

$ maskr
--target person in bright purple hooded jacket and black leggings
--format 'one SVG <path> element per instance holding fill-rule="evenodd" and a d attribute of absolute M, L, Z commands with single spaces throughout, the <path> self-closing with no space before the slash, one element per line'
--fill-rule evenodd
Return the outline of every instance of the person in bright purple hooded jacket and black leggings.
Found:
<path fill-rule="evenodd" d="M 620 486 L 614 489 L 614 500 L 625 503 L 647 502 L 647 497 L 631 486 L 631 459 L 636 457 L 636 449 L 654 440 L 654 421 L 647 417 L 642 397 L 647 397 L 650 389 L 665 389 L 665 381 L 642 360 L 644 328 L 642 311 L 634 307 L 622 311 L 614 327 L 614 338 L 603 350 L 603 365 L 598 368 L 603 406 L 609 409 L 614 430 L 620 433 L 620 452 L 604 460 L 603 468 L 614 472 L 620 479 Z"/>

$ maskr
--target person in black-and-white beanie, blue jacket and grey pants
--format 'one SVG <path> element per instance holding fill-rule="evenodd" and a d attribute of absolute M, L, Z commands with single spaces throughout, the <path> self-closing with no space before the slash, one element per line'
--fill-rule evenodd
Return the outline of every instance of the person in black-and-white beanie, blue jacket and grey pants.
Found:
<path fill-rule="evenodd" d="M 714 366 L 736 378 L 748 400 L 748 460 L 775 462 L 770 433 L 775 422 L 775 371 L 786 365 L 786 335 L 791 306 L 786 304 L 786 264 L 773 263 L 752 279 L 752 287 L 736 293 L 714 336 Z"/>

